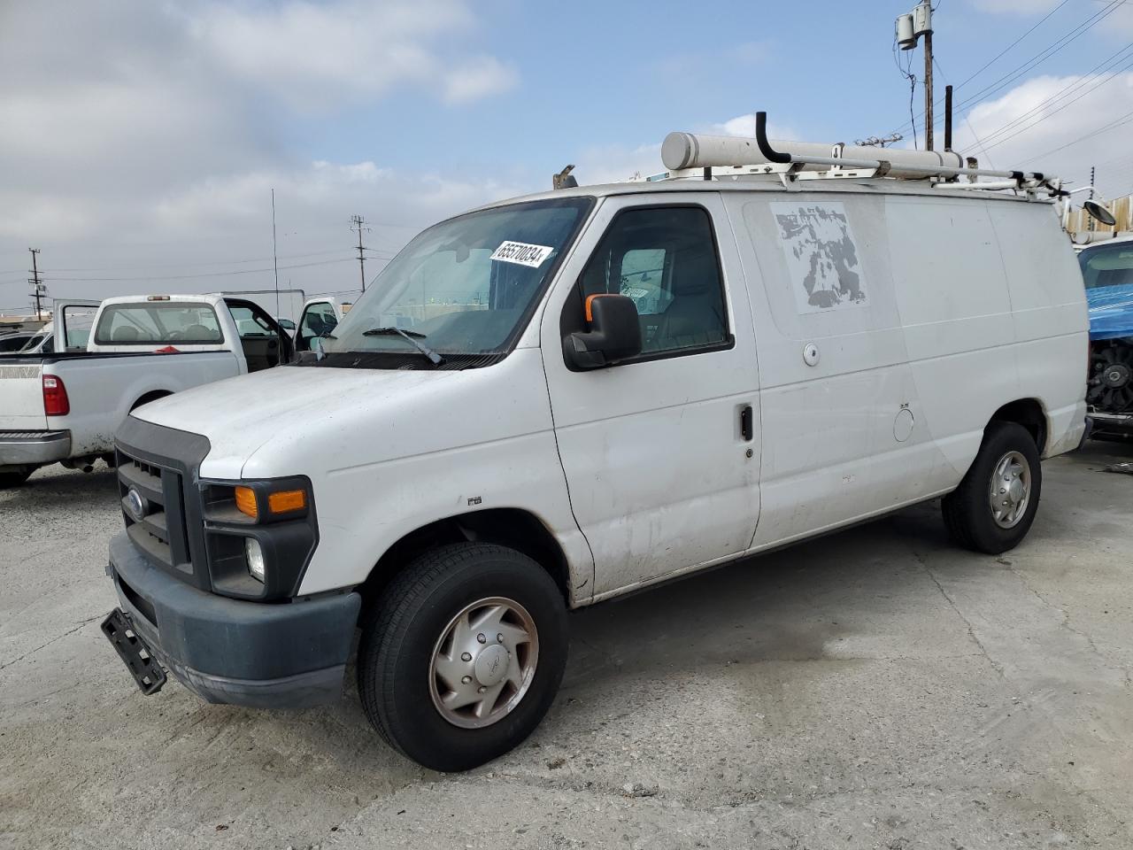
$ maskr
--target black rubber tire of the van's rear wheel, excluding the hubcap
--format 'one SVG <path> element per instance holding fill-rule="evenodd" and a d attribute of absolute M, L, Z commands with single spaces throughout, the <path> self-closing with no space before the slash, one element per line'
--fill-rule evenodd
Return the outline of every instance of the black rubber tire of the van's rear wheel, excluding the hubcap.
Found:
<path fill-rule="evenodd" d="M 1026 461 L 1030 495 L 1022 516 L 1012 527 L 1004 528 L 993 515 L 990 487 L 996 467 L 1010 452 L 1017 452 Z M 960 486 L 944 498 L 942 511 L 948 536 L 964 549 L 989 555 L 1014 549 L 1034 521 L 1041 491 L 1042 467 L 1034 437 L 1016 423 L 993 422 L 983 434 L 979 454 Z"/>

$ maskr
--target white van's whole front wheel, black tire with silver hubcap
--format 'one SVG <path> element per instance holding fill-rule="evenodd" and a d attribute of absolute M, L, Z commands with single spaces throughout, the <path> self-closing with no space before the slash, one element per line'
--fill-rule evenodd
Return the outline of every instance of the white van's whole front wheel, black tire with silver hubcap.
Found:
<path fill-rule="evenodd" d="M 520 743 L 566 664 L 566 610 L 525 554 L 486 543 L 427 552 L 370 609 L 358 692 L 386 742 L 436 771 L 465 771 Z"/>

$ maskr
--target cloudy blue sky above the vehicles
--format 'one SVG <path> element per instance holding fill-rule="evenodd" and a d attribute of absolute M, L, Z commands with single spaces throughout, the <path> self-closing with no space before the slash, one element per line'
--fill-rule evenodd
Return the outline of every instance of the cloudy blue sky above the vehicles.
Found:
<path fill-rule="evenodd" d="M 0 0 L 0 311 L 27 304 L 28 247 L 56 297 L 271 288 L 273 188 L 280 284 L 313 294 L 358 287 L 355 213 L 370 278 L 568 162 L 658 171 L 670 130 L 766 109 L 773 135 L 911 144 L 912 5 Z M 935 29 L 957 148 L 1133 192 L 1133 2 L 938 0 Z"/>

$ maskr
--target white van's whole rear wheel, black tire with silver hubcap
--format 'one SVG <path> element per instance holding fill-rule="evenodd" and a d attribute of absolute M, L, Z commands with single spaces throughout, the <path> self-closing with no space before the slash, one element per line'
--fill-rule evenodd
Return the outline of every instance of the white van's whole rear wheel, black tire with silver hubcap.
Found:
<path fill-rule="evenodd" d="M 1014 549 L 1034 521 L 1041 490 L 1034 437 L 1022 425 L 993 423 L 968 475 L 944 498 L 948 536 L 991 555 Z"/>

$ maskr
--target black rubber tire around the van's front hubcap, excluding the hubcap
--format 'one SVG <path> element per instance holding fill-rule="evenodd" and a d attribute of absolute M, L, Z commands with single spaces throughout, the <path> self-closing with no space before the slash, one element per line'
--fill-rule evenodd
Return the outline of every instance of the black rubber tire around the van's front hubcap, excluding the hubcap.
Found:
<path fill-rule="evenodd" d="M 452 619 L 487 597 L 506 597 L 526 609 L 538 632 L 538 660 L 510 713 L 466 729 L 434 704 L 429 669 Z M 425 767 L 466 771 L 503 755 L 535 730 L 562 681 L 566 645 L 562 593 L 538 563 L 494 544 L 441 546 L 409 564 L 367 613 L 358 646 L 358 694 L 387 743 Z"/>

